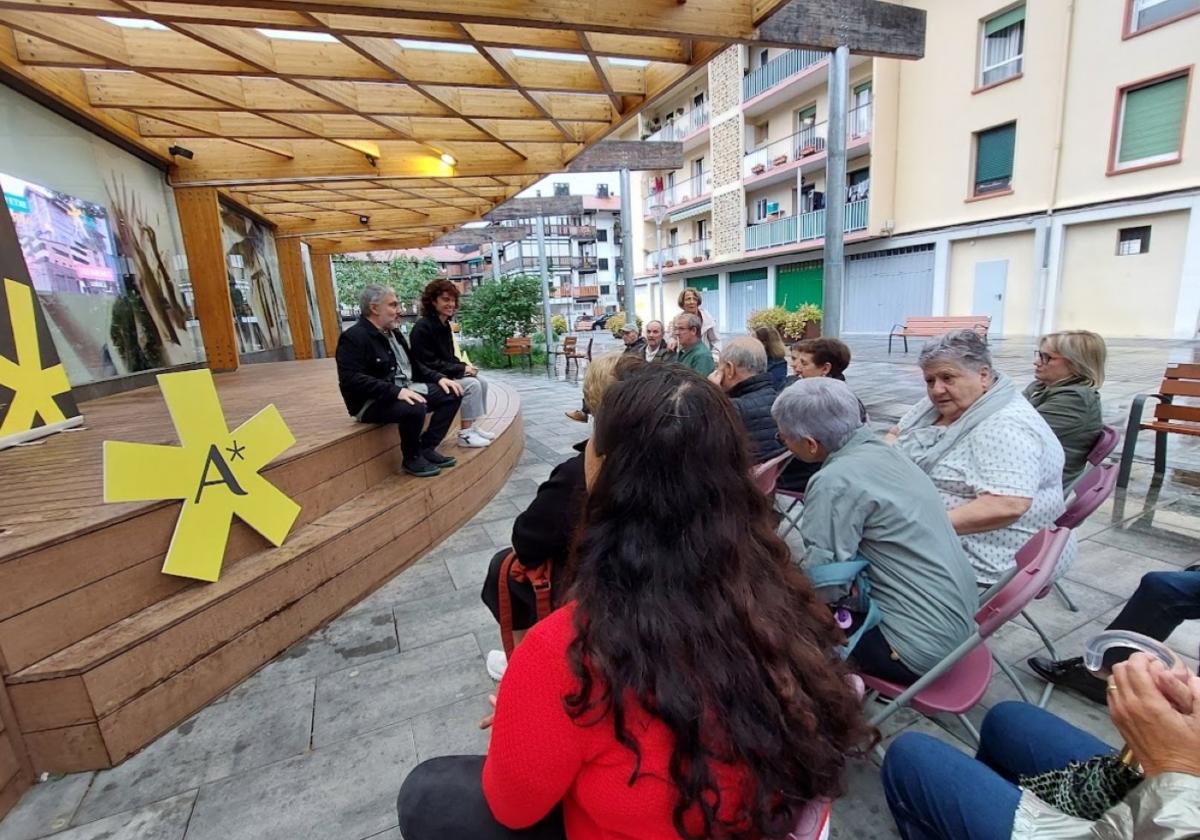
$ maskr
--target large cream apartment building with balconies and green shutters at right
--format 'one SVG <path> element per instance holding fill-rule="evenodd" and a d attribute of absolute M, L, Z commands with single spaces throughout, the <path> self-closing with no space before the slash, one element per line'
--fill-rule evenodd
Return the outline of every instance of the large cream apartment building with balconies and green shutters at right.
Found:
<path fill-rule="evenodd" d="M 1200 0 L 912 5 L 925 58 L 851 58 L 842 331 L 970 313 L 1194 337 Z M 635 182 L 642 317 L 685 286 L 727 331 L 821 302 L 828 64 L 730 48 L 626 132 L 685 150 Z"/>

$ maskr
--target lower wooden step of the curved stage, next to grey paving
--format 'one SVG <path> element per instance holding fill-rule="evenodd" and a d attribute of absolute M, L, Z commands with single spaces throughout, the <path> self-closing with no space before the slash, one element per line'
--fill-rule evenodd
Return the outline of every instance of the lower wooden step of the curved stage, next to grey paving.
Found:
<path fill-rule="evenodd" d="M 499 490 L 523 448 L 516 395 L 493 390 L 505 391 L 500 404 L 493 397 L 503 433 L 487 449 L 456 450 L 458 467 L 432 480 L 379 478 L 216 583 L 184 583 L 10 673 L 35 769 L 119 763 L 454 533 Z"/>

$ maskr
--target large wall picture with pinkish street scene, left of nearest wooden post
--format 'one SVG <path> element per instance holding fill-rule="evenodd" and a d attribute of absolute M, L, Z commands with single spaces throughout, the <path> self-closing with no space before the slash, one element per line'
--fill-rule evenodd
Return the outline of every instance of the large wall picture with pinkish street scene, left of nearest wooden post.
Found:
<path fill-rule="evenodd" d="M 108 185 L 108 205 L 0 173 L 32 288 L 76 384 L 196 360 L 193 322 L 160 246 L 158 220 Z"/>

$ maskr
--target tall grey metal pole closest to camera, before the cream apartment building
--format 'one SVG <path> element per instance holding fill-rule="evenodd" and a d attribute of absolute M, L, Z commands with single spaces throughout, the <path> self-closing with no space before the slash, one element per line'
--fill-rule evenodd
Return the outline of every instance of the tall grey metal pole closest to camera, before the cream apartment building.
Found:
<path fill-rule="evenodd" d="M 838 47 L 829 61 L 829 137 L 826 140 L 824 313 L 821 334 L 841 335 L 841 296 L 846 277 L 846 109 L 850 102 L 850 48 Z"/>

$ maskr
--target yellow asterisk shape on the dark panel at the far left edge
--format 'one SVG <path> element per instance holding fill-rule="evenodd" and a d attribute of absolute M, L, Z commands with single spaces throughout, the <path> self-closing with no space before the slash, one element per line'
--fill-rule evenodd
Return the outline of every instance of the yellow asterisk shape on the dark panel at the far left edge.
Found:
<path fill-rule="evenodd" d="M 34 314 L 34 290 L 7 277 L 4 288 L 8 299 L 12 343 L 17 348 L 17 361 L 0 356 L 0 385 L 16 391 L 12 404 L 0 422 L 0 438 L 28 432 L 34 427 L 34 419 L 38 415 L 46 425 L 66 420 L 54 397 L 71 390 L 62 365 L 42 367 L 42 352 L 37 344 L 37 320 Z"/>

